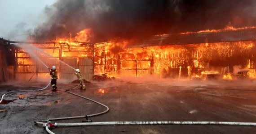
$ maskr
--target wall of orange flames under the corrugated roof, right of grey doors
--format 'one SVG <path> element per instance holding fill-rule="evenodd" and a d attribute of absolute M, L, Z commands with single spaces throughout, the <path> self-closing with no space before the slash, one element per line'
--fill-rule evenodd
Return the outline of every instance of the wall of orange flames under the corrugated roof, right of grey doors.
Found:
<path fill-rule="evenodd" d="M 123 45 L 120 45 L 123 44 Z M 246 53 L 255 47 L 254 42 L 221 42 L 221 43 L 206 43 L 206 44 L 193 44 L 186 45 L 188 47 L 194 47 L 192 55 L 188 55 L 188 49 L 184 46 L 174 45 L 174 46 L 150 46 L 150 47 L 139 47 L 139 48 L 125 48 L 127 43 L 113 43 L 105 42 L 97 44 L 99 52 L 104 52 L 105 59 L 97 59 L 95 63 L 109 63 L 111 66 L 117 68 L 117 58 L 116 55 L 120 55 L 121 69 L 123 72 L 128 72 L 128 74 L 135 74 L 137 72 L 149 73 L 150 70 L 154 70 L 154 74 L 164 77 L 164 74 L 170 74 L 172 69 L 180 68 L 179 77 L 181 77 L 181 70 L 184 71 L 185 63 L 188 63 L 192 58 L 193 65 L 191 68 L 205 68 L 205 61 L 214 60 L 214 57 L 221 58 L 223 60 L 234 56 L 239 53 Z M 114 53 L 110 48 L 115 48 L 119 50 L 118 53 Z M 114 50 L 115 50 L 114 49 Z M 100 55 L 100 53 L 98 54 Z M 115 61 L 115 62 L 113 62 Z M 154 63 L 154 65 L 151 64 Z M 253 64 L 253 62 L 248 60 L 248 63 Z M 252 66 L 252 65 L 251 65 Z M 181 69 L 183 68 L 183 69 Z M 99 71 L 100 70 L 100 71 Z M 102 66 L 97 72 L 105 72 L 106 67 Z M 202 72 L 203 74 L 218 73 L 212 71 Z M 140 75 L 137 75 L 140 76 Z M 188 75 L 188 77 L 190 77 Z"/>

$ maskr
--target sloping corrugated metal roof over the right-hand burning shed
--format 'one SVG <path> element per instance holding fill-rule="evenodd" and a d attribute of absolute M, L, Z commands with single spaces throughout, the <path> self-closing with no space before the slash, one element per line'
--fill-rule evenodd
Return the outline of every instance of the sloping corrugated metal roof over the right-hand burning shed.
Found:
<path fill-rule="evenodd" d="M 127 48 L 185 45 L 213 42 L 238 42 L 256 40 L 256 28 L 224 30 L 218 32 L 198 32 L 190 34 L 155 35 L 142 42 L 129 44 Z"/>

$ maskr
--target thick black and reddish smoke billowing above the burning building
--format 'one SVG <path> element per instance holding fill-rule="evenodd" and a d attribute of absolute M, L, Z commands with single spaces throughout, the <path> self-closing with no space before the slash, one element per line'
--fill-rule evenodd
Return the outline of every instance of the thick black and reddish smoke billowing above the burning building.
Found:
<path fill-rule="evenodd" d="M 254 0 L 58 0 L 45 8 L 48 20 L 37 40 L 75 36 L 92 28 L 93 42 L 155 34 L 223 29 L 256 24 Z"/>

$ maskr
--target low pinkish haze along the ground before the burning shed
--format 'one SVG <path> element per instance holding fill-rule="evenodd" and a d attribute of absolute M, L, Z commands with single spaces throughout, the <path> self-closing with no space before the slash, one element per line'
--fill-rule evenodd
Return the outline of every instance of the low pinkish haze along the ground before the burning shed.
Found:
<path fill-rule="evenodd" d="M 120 76 L 115 80 L 106 81 L 91 81 L 92 84 L 97 85 L 99 88 L 118 87 L 124 84 L 148 84 L 158 85 L 159 87 L 170 87 L 170 90 L 175 90 L 176 87 L 184 87 L 184 89 L 239 89 L 239 90 L 252 90 L 256 84 L 256 80 L 187 80 L 187 79 L 159 79 L 154 76 L 147 77 L 131 77 Z"/>

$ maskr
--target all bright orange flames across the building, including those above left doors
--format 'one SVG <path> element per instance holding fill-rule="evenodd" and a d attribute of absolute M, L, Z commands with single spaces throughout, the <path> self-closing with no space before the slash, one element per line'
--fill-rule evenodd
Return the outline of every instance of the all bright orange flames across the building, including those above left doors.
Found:
<path fill-rule="evenodd" d="M 256 27 L 234 28 L 227 26 L 219 30 L 202 30 L 198 32 L 186 32 L 181 34 L 220 32 L 223 30 L 239 30 Z M 156 35 L 168 36 L 168 34 Z M 49 47 L 56 49 L 44 49 L 48 54 L 57 58 L 81 58 L 93 57 L 94 73 L 107 73 L 110 77 L 117 74 L 128 74 L 133 76 L 158 75 L 159 77 L 171 77 L 181 74 L 190 77 L 190 73 L 195 73 L 194 77 L 216 74 L 221 71 L 211 71 L 208 66 L 211 60 L 228 60 L 232 57 L 239 57 L 239 54 L 246 54 L 255 48 L 255 42 L 219 42 L 203 43 L 190 45 L 172 45 L 172 46 L 150 46 L 126 48 L 128 40 L 115 38 L 109 42 L 96 43 L 89 47 L 90 39 L 93 37 L 92 29 L 84 29 L 77 33 L 75 38 L 56 38 L 54 42 L 63 43 L 62 51 L 58 50 L 60 46 L 51 44 Z M 67 43 L 68 45 L 64 44 Z M 18 57 L 24 57 L 25 53 L 18 53 Z M 40 55 L 44 57 L 45 55 Z M 251 56 L 253 57 L 253 55 Z M 248 58 L 247 67 L 253 69 L 254 62 Z M 18 59 L 18 64 L 33 64 L 29 59 Z M 189 68 L 188 68 L 189 67 Z M 230 67 L 231 68 L 231 67 Z M 203 70 L 193 72 L 194 69 Z M 26 70 L 26 69 L 25 69 Z M 173 72 L 177 72 L 176 74 Z M 255 72 L 252 71 L 252 72 Z M 222 74 L 224 79 L 232 79 L 231 74 Z M 184 76 L 184 77 L 185 77 Z M 192 75 L 191 75 L 192 76 Z M 255 77 L 255 73 L 252 75 Z"/>

